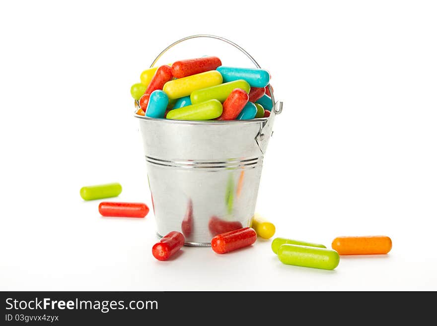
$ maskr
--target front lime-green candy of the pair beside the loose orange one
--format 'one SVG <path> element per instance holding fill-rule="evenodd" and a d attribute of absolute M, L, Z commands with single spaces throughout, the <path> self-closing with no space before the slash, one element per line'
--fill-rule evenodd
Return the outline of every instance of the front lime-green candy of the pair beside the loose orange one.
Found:
<path fill-rule="evenodd" d="M 322 269 L 334 269 L 340 262 L 335 250 L 287 244 L 279 247 L 278 258 L 288 265 Z"/>

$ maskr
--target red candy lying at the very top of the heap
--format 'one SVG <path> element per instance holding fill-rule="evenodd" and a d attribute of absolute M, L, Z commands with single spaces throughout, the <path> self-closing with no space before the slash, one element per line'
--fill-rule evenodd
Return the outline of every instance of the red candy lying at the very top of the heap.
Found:
<path fill-rule="evenodd" d="M 182 78 L 205 71 L 215 70 L 219 65 L 221 65 L 221 61 L 217 57 L 181 60 L 176 61 L 171 66 L 171 72 L 176 78 Z"/>

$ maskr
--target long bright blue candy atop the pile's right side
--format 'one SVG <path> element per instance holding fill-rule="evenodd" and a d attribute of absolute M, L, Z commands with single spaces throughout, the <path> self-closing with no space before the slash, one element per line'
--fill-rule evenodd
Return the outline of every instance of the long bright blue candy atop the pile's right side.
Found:
<path fill-rule="evenodd" d="M 223 82 L 244 79 L 250 87 L 266 87 L 270 82 L 269 71 L 260 68 L 236 68 L 221 65 L 217 71 L 223 76 Z"/>

